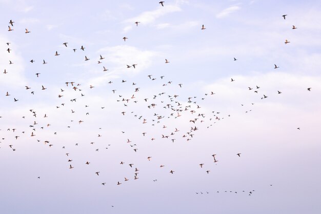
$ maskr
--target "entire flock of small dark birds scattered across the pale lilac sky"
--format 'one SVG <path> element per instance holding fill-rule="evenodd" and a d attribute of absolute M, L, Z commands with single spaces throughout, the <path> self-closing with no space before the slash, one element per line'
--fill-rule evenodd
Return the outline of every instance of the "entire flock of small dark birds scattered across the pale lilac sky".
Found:
<path fill-rule="evenodd" d="M 161 6 L 164 7 L 164 3 L 165 2 L 159 2 L 159 4 Z M 287 15 L 283 15 L 283 18 L 286 19 Z M 11 31 L 13 31 L 13 27 L 14 27 L 14 23 L 12 20 L 10 20 L 9 22 L 9 26 L 8 26 L 8 31 L 10 33 L 12 33 Z M 138 24 L 141 22 L 135 22 L 133 24 L 135 24 L 138 27 Z M 201 30 L 206 30 L 205 26 L 202 25 L 202 27 L 200 28 Z M 295 26 L 292 27 L 292 29 L 297 29 Z M 31 33 L 31 31 L 29 31 L 28 29 L 25 29 L 25 33 Z M 128 39 L 128 37 L 124 36 L 123 40 L 124 42 L 126 42 L 126 40 Z M 285 44 L 287 45 L 288 43 L 290 43 L 290 41 L 285 40 Z M 8 49 L 6 50 L 8 52 L 8 54 L 11 54 L 12 49 L 10 49 L 10 42 L 7 43 L 8 45 Z M 62 43 L 62 45 L 65 46 L 65 48 L 69 48 L 69 43 L 68 42 L 64 42 Z M 76 48 L 73 48 L 72 51 L 76 52 Z M 85 47 L 84 45 L 80 47 L 81 51 L 84 51 L 83 53 L 86 53 Z M 61 53 L 58 53 L 58 51 L 55 51 L 55 53 L 53 53 L 53 55 L 55 55 L 56 57 L 62 57 Z M 84 56 L 83 58 L 85 61 L 89 61 L 90 58 L 87 57 L 87 55 Z M 99 55 L 99 57 L 97 57 L 97 64 L 102 64 L 104 63 L 104 59 L 105 57 L 103 57 L 103 55 Z M 14 59 L 9 61 L 9 65 L 13 64 Z M 237 61 L 237 59 L 234 57 L 234 61 Z M 49 62 L 46 62 L 45 59 L 42 60 L 30 60 L 30 63 L 37 63 L 37 62 L 42 62 L 43 65 L 48 64 Z M 168 59 L 165 59 L 165 64 L 169 64 L 170 61 Z M 127 68 L 133 68 L 135 69 L 137 66 L 137 64 L 132 64 L 132 65 L 124 65 L 124 67 Z M 274 64 L 274 69 L 278 69 L 279 67 Z M 103 66 L 102 68 L 103 72 L 107 72 L 109 71 L 109 69 L 106 68 L 106 66 Z M 10 69 L 6 68 L 4 69 L 3 72 L 4 76 L 2 76 L 1 78 L 6 78 L 6 75 L 10 75 Z M 35 78 L 39 78 L 41 79 L 41 73 L 37 72 L 34 74 Z M 146 81 L 154 81 L 156 82 L 156 84 L 158 84 L 161 87 L 169 87 L 172 85 L 176 85 L 176 88 L 174 88 L 174 90 L 183 90 L 184 89 L 184 84 L 182 83 L 173 83 L 173 81 L 170 80 L 166 80 L 165 76 L 159 76 L 159 77 L 155 77 L 154 75 L 150 74 L 148 76 L 146 76 Z M 158 82 L 157 82 L 157 81 Z M 231 79 L 231 82 L 237 81 L 235 79 Z M 65 82 L 65 81 L 64 81 Z M 113 98 L 115 99 L 116 103 L 122 103 L 122 110 L 120 110 L 118 112 L 118 114 L 123 115 L 123 116 L 131 116 L 133 119 L 137 119 L 137 121 L 139 123 L 142 124 L 146 124 L 146 126 L 150 125 L 150 126 L 155 126 L 158 128 L 158 130 L 161 132 L 158 136 L 156 135 L 149 135 L 146 131 L 142 130 L 141 134 L 143 135 L 143 137 L 146 137 L 147 141 L 154 141 L 156 139 L 163 139 L 163 141 L 167 141 L 169 143 L 176 143 L 176 141 L 178 140 L 182 140 L 185 139 L 186 142 L 190 142 L 193 140 L 194 135 L 197 134 L 197 130 L 199 130 L 199 126 L 200 124 L 207 124 L 206 127 L 210 128 L 214 123 L 219 122 L 220 120 L 223 120 L 226 116 L 229 117 L 230 114 L 226 114 L 226 115 L 222 115 L 222 113 L 220 113 L 219 111 L 212 111 L 210 113 L 208 112 L 204 112 L 202 111 L 202 105 L 200 102 L 202 102 L 203 100 L 205 100 L 206 97 L 208 96 L 214 96 L 215 93 L 217 92 L 213 92 L 213 91 L 209 91 L 208 93 L 204 94 L 205 96 L 203 98 L 201 98 L 200 100 L 197 100 L 197 96 L 190 96 L 187 100 L 185 101 L 180 101 L 178 100 L 179 95 L 176 93 L 173 94 L 167 94 L 166 92 L 162 91 L 162 92 L 157 92 L 155 93 L 155 95 L 151 96 L 151 97 L 146 97 L 146 98 L 142 98 L 142 99 L 137 99 L 138 98 L 138 94 L 140 91 L 140 87 L 137 86 L 138 83 L 129 83 L 127 80 L 122 80 L 120 81 L 120 83 L 124 84 L 124 87 L 128 88 L 128 91 L 132 92 L 131 96 L 126 96 L 123 94 L 117 94 L 117 88 L 111 88 L 110 89 L 110 93 L 113 95 Z M 231 83 L 233 84 L 233 83 Z M 113 82 L 109 81 L 107 83 L 107 85 L 109 85 L 110 87 L 113 86 Z M 62 100 L 61 104 L 58 104 L 55 106 L 55 108 L 57 110 L 60 110 L 61 108 L 64 108 L 65 106 L 71 106 L 71 109 L 69 109 L 68 111 L 70 112 L 70 114 L 75 113 L 74 108 L 77 105 L 78 100 L 83 99 L 85 100 L 86 98 L 86 94 L 84 91 L 86 90 L 95 90 L 94 89 L 95 86 L 94 85 L 90 85 L 90 86 L 82 86 L 82 83 L 77 83 L 77 82 L 73 82 L 73 81 L 66 81 L 65 83 L 62 83 L 61 85 L 61 89 L 59 91 L 57 91 L 57 97 L 59 99 Z M 259 86 L 255 86 L 255 87 L 248 87 L 248 90 L 253 91 L 254 93 L 259 93 Z M 39 85 L 38 90 L 32 90 L 31 87 L 29 86 L 25 86 L 25 90 L 30 90 L 31 94 L 35 94 L 38 91 L 44 91 L 47 90 L 45 83 Z M 66 96 L 64 95 L 64 92 L 68 90 L 68 91 L 74 91 L 74 96 L 72 98 L 66 98 Z M 174 91 L 174 90 L 170 90 L 170 91 Z M 311 88 L 307 88 L 308 91 L 311 91 Z M 277 94 L 281 94 L 282 92 L 277 90 Z M 7 91 L 4 94 L 7 97 L 12 97 L 13 96 L 13 102 L 18 102 L 19 99 L 17 98 L 16 95 L 12 94 Z M 268 95 L 265 94 L 260 94 L 260 99 L 267 99 Z M 137 97 L 137 98 L 136 98 Z M 187 102 L 187 105 L 183 105 L 182 103 Z M 69 104 L 66 104 L 69 103 Z M 133 105 L 139 105 L 142 103 L 142 108 L 145 108 L 146 110 L 144 110 L 144 112 L 142 113 L 142 115 L 137 114 L 136 112 L 131 110 L 131 107 Z M 22 106 L 24 105 L 23 103 L 21 104 Z M 243 106 L 243 104 L 241 104 Z M 254 103 L 252 103 L 252 105 L 254 105 Z M 82 106 L 81 108 L 87 108 L 90 106 L 90 103 Z M 104 109 L 105 107 L 100 107 L 100 109 Z M 96 110 L 98 110 L 99 108 L 97 108 Z M 119 108 L 120 109 L 120 108 Z M 148 115 L 150 112 L 147 111 L 153 111 L 152 117 L 150 118 L 150 116 Z M 251 110 L 249 110 L 251 111 Z M 35 139 L 35 141 L 37 142 L 44 142 L 46 145 L 48 145 L 48 147 L 52 147 L 54 146 L 54 143 L 51 143 L 50 140 L 50 136 L 48 136 L 48 139 L 45 140 L 38 140 L 37 139 L 37 133 L 41 132 L 43 129 L 49 129 L 49 127 L 52 126 L 52 124 L 50 124 L 49 122 L 44 124 L 44 125 L 39 125 L 36 121 L 39 117 L 43 117 L 43 118 L 50 118 L 50 112 L 46 112 L 45 114 L 39 115 L 39 113 L 35 110 L 35 109 L 29 109 L 30 112 L 30 116 L 27 117 L 25 115 L 22 116 L 23 119 L 26 118 L 32 118 L 30 119 L 30 125 L 29 125 L 29 129 L 26 130 L 17 130 L 16 128 L 8 128 L 6 127 L 7 131 L 12 131 L 12 133 L 14 133 L 15 136 L 13 136 L 13 138 L 15 140 L 20 139 L 20 135 L 28 135 L 28 137 L 31 137 L 32 139 Z M 248 111 L 246 111 L 247 113 Z M 179 127 L 175 128 L 175 129 L 171 129 L 168 130 L 167 128 L 167 120 L 166 119 L 177 119 L 179 120 L 181 118 L 181 116 L 184 115 L 184 117 L 182 118 L 187 118 L 189 117 L 189 123 L 190 125 L 190 129 L 189 130 L 180 130 Z M 79 125 L 82 125 L 83 123 L 86 123 L 86 116 L 90 116 L 90 112 L 86 112 L 86 115 L 84 115 L 84 119 L 76 119 L 76 120 L 72 120 L 71 122 L 77 122 Z M 0 118 L 2 118 L 3 116 L 0 116 Z M 183 120 L 184 120 L 183 119 Z M 66 128 L 70 128 L 71 125 L 68 125 Z M 203 127 L 203 126 L 202 126 Z M 98 127 L 97 127 L 98 128 Z M 297 128 L 300 129 L 300 128 Z M 101 131 L 101 128 L 98 128 L 99 131 Z M 125 134 L 126 131 L 122 131 L 122 134 Z M 20 135 L 19 135 L 20 134 Z M 54 135 L 58 134 L 56 131 L 53 132 Z M 103 134 L 99 133 L 96 137 L 100 138 L 102 137 Z M 137 152 L 139 149 L 139 144 L 136 142 L 133 142 L 130 140 L 130 137 L 126 137 L 127 141 L 124 141 L 125 144 L 128 144 L 128 147 L 130 147 L 133 152 Z M 24 139 L 27 139 L 26 137 L 24 137 Z M 6 138 L 2 138 L 2 146 L 4 146 L 4 144 L 7 142 Z M 8 141 L 12 142 L 11 139 L 9 139 Z M 94 145 L 94 141 L 90 142 L 91 145 Z M 1 144 L 0 144 L 1 145 Z M 8 145 L 13 151 L 16 151 L 16 148 L 14 147 L 14 143 L 10 143 Z M 74 146 L 78 146 L 78 143 L 76 143 Z M 110 144 L 106 145 L 106 149 L 108 149 L 108 147 L 111 146 Z M 63 152 L 66 154 L 66 162 L 68 163 L 68 167 L 70 170 L 73 170 L 74 164 L 72 164 L 73 160 L 72 160 L 72 152 L 65 152 L 66 147 L 68 147 L 68 149 L 72 149 L 71 145 L 64 145 L 62 146 L 62 150 Z M 95 148 L 95 151 L 99 151 L 99 148 Z M 241 153 L 236 153 L 234 154 L 236 155 L 238 158 L 242 158 Z M 213 163 L 217 163 L 219 160 L 217 158 L 217 154 L 212 154 L 212 162 Z M 145 157 L 144 159 L 146 159 L 146 161 L 152 162 L 153 159 L 151 156 Z M 83 161 L 84 165 L 88 165 L 90 167 L 90 161 L 86 160 Z M 118 181 L 114 181 L 115 185 L 122 185 L 124 182 L 127 182 L 131 179 L 133 180 L 137 180 L 138 179 L 138 173 L 139 173 L 139 168 L 138 166 L 136 166 L 135 163 L 125 163 L 123 160 L 119 160 L 119 164 L 121 165 L 127 165 L 128 167 L 133 169 L 133 175 L 132 178 L 128 177 L 128 176 L 124 176 L 123 180 L 118 180 Z M 211 170 L 209 168 L 205 169 L 205 167 L 207 166 L 204 163 L 195 163 L 195 166 L 200 167 L 202 170 L 204 169 L 204 173 L 205 174 L 209 174 L 211 172 Z M 175 174 L 175 170 L 179 170 L 179 169 L 172 169 L 170 168 L 170 166 L 165 166 L 163 164 L 159 164 L 158 166 L 159 168 L 167 168 L 165 171 L 166 173 L 173 175 Z M 210 166 L 208 166 L 210 167 Z M 92 174 L 93 176 L 99 176 L 101 173 L 104 173 L 103 171 L 93 171 Z M 41 179 L 41 176 L 35 176 L 38 179 Z M 153 182 L 156 182 L 157 179 L 154 179 Z M 103 181 L 101 183 L 101 185 L 105 186 L 107 184 L 107 182 Z M 272 186 L 272 185 L 271 185 Z M 206 193 L 205 193 L 206 192 Z M 208 191 L 205 192 L 196 192 L 196 194 L 208 194 Z M 219 193 L 220 191 L 217 191 L 217 193 Z M 225 192 L 232 192 L 232 193 L 237 193 L 237 191 L 225 191 Z M 245 192 L 244 190 L 242 192 Z M 249 196 L 251 196 L 251 194 L 254 192 L 254 190 L 249 191 Z"/>

